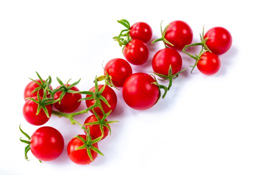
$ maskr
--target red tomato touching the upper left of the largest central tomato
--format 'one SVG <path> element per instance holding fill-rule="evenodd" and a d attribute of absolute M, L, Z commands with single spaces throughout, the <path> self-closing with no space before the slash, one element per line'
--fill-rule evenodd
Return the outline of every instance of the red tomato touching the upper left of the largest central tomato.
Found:
<path fill-rule="evenodd" d="M 132 74 L 132 68 L 125 59 L 114 58 L 105 64 L 104 74 L 106 72 L 112 76 L 115 86 L 122 87 L 125 79 Z"/>

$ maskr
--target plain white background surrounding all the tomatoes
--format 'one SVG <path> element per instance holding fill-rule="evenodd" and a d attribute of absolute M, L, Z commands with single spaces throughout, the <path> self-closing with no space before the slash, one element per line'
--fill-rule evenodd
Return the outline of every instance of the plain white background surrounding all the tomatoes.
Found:
<path fill-rule="evenodd" d="M 262 24 L 255 0 L 1 0 L 0 1 L 0 174 L 262 174 Z M 116 22 L 148 22 L 153 38 L 160 22 L 184 20 L 194 41 L 205 24 L 226 27 L 231 49 L 220 56 L 221 69 L 213 76 L 197 69 L 182 54 L 186 72 L 174 80 L 164 100 L 145 111 L 129 108 L 117 92 L 118 104 L 109 119 L 112 135 L 99 143 L 105 156 L 90 165 L 69 160 L 66 148 L 54 161 L 39 163 L 31 153 L 23 158 L 22 128 L 31 135 L 39 126 L 22 115 L 23 88 L 28 77 L 51 75 L 72 78 L 81 90 L 93 86 L 101 64 L 122 57 L 112 37 L 123 28 Z M 151 71 L 154 53 L 133 71 Z M 197 49 L 193 49 L 197 51 Z M 79 109 L 85 107 L 81 104 Z M 89 114 L 77 116 L 83 122 Z M 57 128 L 67 142 L 82 133 L 65 118 L 52 116 L 44 124 Z"/>

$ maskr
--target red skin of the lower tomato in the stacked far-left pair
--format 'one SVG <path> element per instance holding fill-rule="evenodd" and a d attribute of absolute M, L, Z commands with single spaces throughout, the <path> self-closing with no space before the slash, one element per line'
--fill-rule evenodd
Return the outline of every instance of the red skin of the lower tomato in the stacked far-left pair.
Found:
<path fill-rule="evenodd" d="M 33 98 L 37 100 L 37 97 L 33 97 Z M 42 125 L 46 123 L 49 120 L 49 118 L 46 116 L 42 108 L 40 109 L 38 115 L 36 115 L 37 106 L 38 104 L 36 104 L 34 101 L 32 101 L 31 99 L 27 99 L 23 105 L 23 116 L 26 119 L 26 121 L 29 122 L 30 124 Z M 46 105 L 46 108 L 48 110 L 49 116 L 51 116 L 52 105 L 48 104 Z"/>

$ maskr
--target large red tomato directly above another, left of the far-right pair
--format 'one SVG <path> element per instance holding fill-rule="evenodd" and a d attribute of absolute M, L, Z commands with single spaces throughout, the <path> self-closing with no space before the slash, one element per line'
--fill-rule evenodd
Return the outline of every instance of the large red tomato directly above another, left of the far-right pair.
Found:
<path fill-rule="evenodd" d="M 185 21 L 175 20 L 169 23 L 165 38 L 174 45 L 167 44 L 169 47 L 182 50 L 185 45 L 192 42 L 193 31 Z"/>

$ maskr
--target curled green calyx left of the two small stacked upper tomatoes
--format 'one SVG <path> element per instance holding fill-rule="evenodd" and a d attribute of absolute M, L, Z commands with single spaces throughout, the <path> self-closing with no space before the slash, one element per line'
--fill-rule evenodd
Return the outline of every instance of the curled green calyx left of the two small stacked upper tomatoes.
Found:
<path fill-rule="evenodd" d="M 117 22 L 126 27 L 126 29 L 121 30 L 121 32 L 117 36 L 113 37 L 113 39 L 119 43 L 119 46 L 122 47 L 122 45 L 126 45 L 132 39 L 129 34 L 131 26 L 126 19 L 117 20 Z"/>

